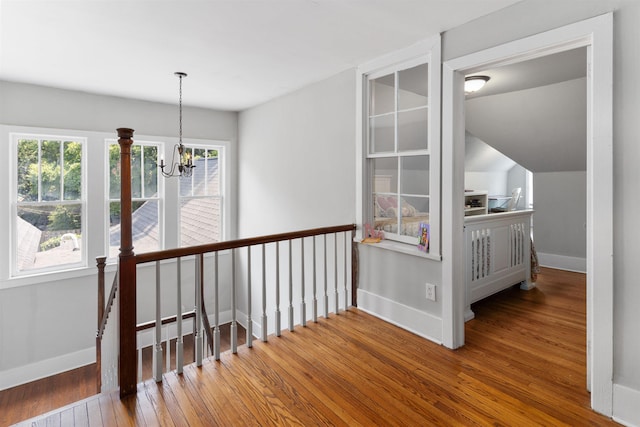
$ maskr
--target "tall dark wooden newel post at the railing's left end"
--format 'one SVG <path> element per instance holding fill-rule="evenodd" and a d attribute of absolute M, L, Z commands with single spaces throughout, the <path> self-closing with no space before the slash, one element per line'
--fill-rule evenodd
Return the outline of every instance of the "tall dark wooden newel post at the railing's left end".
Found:
<path fill-rule="evenodd" d="M 131 145 L 133 129 L 119 128 L 120 144 L 120 397 L 134 394 L 136 387 L 136 261 L 131 231 Z"/>

